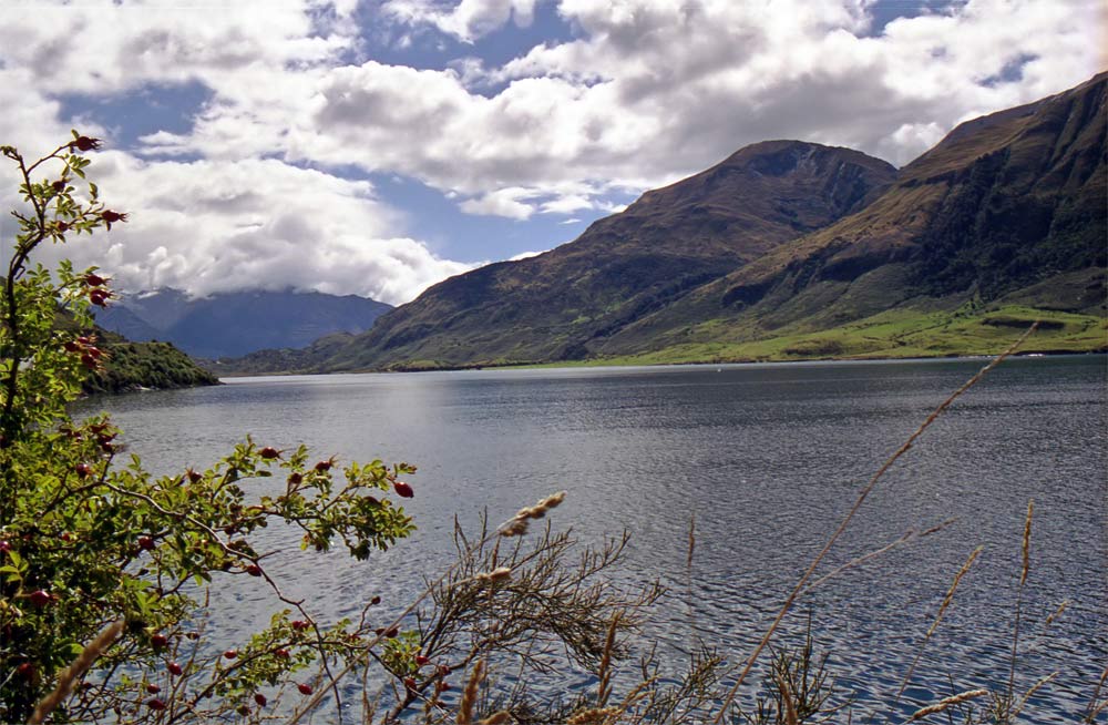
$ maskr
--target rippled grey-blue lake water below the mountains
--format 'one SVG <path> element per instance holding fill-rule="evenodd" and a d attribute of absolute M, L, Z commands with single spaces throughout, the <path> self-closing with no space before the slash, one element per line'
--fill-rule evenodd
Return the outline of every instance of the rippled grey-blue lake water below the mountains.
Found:
<path fill-rule="evenodd" d="M 409 461 L 419 531 L 369 562 L 328 555 L 278 570 L 320 620 L 379 594 L 399 610 L 452 560 L 456 513 L 494 521 L 565 489 L 553 517 L 585 541 L 623 529 L 625 583 L 670 594 L 647 639 L 677 663 L 704 639 L 740 661 L 813 553 L 888 456 L 984 362 L 930 360 L 666 368 L 474 370 L 242 378 L 83 401 L 109 410 L 158 472 L 212 463 L 245 432 L 320 458 Z M 1006 361 L 961 398 L 885 476 L 821 571 L 910 529 L 956 521 L 806 595 L 818 649 L 858 712 L 888 707 L 951 581 L 984 545 L 927 643 L 901 712 L 1007 682 L 1020 539 L 1035 500 L 1017 688 L 1057 677 L 1026 722 L 1078 718 L 1108 663 L 1108 396 L 1102 356 Z M 696 517 L 691 572 L 686 565 Z M 220 631 L 266 619 L 233 584 Z M 1068 610 L 1049 629 L 1059 602 Z M 383 615 L 382 615 L 383 616 Z M 674 665 L 676 666 L 676 664 Z M 588 685 L 557 683 L 552 688 Z"/>

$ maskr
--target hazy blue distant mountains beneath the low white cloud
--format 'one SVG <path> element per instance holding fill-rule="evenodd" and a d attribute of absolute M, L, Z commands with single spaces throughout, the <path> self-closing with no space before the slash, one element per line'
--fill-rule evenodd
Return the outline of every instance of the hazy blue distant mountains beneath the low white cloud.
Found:
<path fill-rule="evenodd" d="M 321 293 L 240 292 L 189 299 L 176 289 L 129 295 L 96 321 L 133 340 L 165 340 L 218 359 L 266 348 L 302 348 L 335 333 L 363 333 L 384 303 Z"/>

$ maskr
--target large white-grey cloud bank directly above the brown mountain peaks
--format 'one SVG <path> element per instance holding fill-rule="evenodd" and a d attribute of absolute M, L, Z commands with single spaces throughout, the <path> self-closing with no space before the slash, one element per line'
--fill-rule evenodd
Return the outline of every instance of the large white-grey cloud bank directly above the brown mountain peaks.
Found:
<path fill-rule="evenodd" d="M 447 18 L 503 24 L 519 11 L 492 1 L 388 9 L 409 28 L 440 30 Z M 669 183 L 766 139 L 847 145 L 903 164 L 967 114 L 1074 85 L 1099 61 L 1092 0 L 968 2 L 895 20 L 878 37 L 852 1 L 767 10 L 729 0 L 562 0 L 557 11 L 578 38 L 494 68 L 468 54 L 442 70 L 367 61 L 280 82 L 230 74 L 214 81 L 218 100 L 194 131 L 161 149 L 400 173 L 461 194 L 463 211 L 526 218 L 534 201 L 513 190 L 561 195 L 587 184 L 585 208 L 613 186 Z M 1016 80 L 998 75 L 1014 62 Z"/>

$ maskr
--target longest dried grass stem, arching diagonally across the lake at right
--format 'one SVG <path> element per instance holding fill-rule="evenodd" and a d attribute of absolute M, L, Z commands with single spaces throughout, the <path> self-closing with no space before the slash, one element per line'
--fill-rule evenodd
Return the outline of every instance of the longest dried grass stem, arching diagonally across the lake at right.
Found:
<path fill-rule="evenodd" d="M 773 637 L 773 634 L 777 632 L 777 627 L 780 626 L 781 620 L 783 620 L 784 615 L 789 613 L 790 609 L 792 609 L 793 602 L 796 602 L 797 598 L 807 586 L 808 580 L 811 579 L 812 574 L 815 572 L 815 569 L 823 561 L 823 558 L 827 556 L 828 551 L 830 551 L 831 547 L 834 545 L 834 542 L 839 540 L 839 537 L 842 535 L 842 532 L 847 530 L 848 525 L 850 525 L 850 522 L 854 519 L 854 515 L 858 513 L 859 509 L 862 508 L 862 504 L 865 502 L 865 499 L 873 491 L 874 487 L 876 487 L 878 481 L 880 481 L 882 477 L 884 477 L 884 474 L 889 471 L 890 468 L 893 467 L 893 463 L 895 463 L 901 456 L 906 453 L 912 448 L 916 439 L 923 435 L 923 431 L 925 431 L 927 428 L 931 427 L 931 423 L 935 422 L 935 420 L 941 415 L 946 412 L 946 409 L 950 408 L 951 405 L 955 400 L 957 400 L 966 390 L 977 385 L 981 381 L 981 379 L 984 378 L 993 368 L 995 368 L 997 365 L 1004 361 L 1009 355 L 1019 349 L 1019 346 L 1024 344 L 1024 340 L 1026 340 L 1032 335 L 1032 333 L 1034 333 L 1037 328 L 1038 328 L 1038 323 L 1036 321 L 1030 327 L 1028 327 L 1027 331 L 1020 335 L 1019 338 L 1008 347 L 1008 349 L 1004 350 L 995 358 L 993 358 L 993 360 L 989 361 L 988 365 L 978 370 L 977 374 L 972 378 L 970 378 L 968 380 L 966 380 L 961 388 L 951 394 L 951 396 L 946 398 L 946 400 L 941 402 L 938 407 L 935 408 L 935 410 L 930 416 L 927 416 L 927 419 L 924 420 L 919 428 L 916 428 L 915 432 L 909 436 L 907 440 L 905 440 L 904 443 L 900 448 L 897 448 L 892 456 L 889 457 L 889 459 L 881 466 L 881 468 L 878 469 L 878 472 L 873 474 L 873 478 L 870 479 L 869 483 L 865 484 L 861 493 L 858 494 L 858 499 L 854 501 L 854 504 L 850 508 L 850 511 L 847 512 L 847 515 L 843 517 L 842 522 L 839 523 L 839 528 L 837 528 L 834 530 L 834 533 L 831 534 L 831 538 L 828 539 L 828 542 L 823 545 L 823 549 L 821 549 L 820 552 L 815 554 L 815 558 L 812 559 L 812 563 L 809 564 L 808 570 L 803 573 L 803 575 L 801 575 L 800 581 L 797 582 L 797 585 L 792 589 L 792 592 L 790 592 L 789 595 L 786 598 L 784 603 L 781 604 L 781 609 L 778 611 L 777 616 L 773 619 L 773 622 L 769 625 L 769 629 L 766 630 L 766 634 L 762 635 L 762 639 L 758 643 L 758 646 L 755 647 L 755 651 L 747 658 L 747 662 L 743 665 L 742 671 L 739 673 L 738 680 L 735 681 L 735 684 L 728 691 L 727 696 L 724 698 L 724 702 L 719 707 L 719 712 L 716 713 L 716 716 L 711 721 L 711 725 L 719 725 L 722 722 L 724 714 L 727 712 L 727 708 L 731 706 L 731 703 L 735 702 L 735 697 L 736 695 L 738 695 L 739 687 L 742 686 L 742 683 L 746 681 L 747 675 L 750 674 L 750 670 L 753 667 L 755 662 L 758 660 L 759 655 L 761 655 L 762 651 L 767 647 L 767 645 L 769 645 L 769 641 Z"/>

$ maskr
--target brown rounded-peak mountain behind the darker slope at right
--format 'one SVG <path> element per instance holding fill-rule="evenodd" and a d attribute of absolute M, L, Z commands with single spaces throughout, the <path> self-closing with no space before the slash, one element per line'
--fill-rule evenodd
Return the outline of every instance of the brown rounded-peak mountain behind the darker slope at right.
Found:
<path fill-rule="evenodd" d="M 575 242 L 452 277 L 381 317 L 330 369 L 575 359 L 690 289 L 863 208 L 895 170 L 847 149 L 748 146 L 647 192 Z"/>

